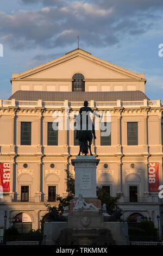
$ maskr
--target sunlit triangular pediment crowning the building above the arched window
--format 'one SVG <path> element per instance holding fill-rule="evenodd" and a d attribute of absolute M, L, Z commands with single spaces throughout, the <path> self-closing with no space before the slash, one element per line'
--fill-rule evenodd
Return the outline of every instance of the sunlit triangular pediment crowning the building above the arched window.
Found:
<path fill-rule="evenodd" d="M 144 74 L 123 69 L 81 49 L 20 74 L 12 74 L 12 80 L 71 80 L 77 72 L 82 73 L 85 80 L 145 80 Z"/>

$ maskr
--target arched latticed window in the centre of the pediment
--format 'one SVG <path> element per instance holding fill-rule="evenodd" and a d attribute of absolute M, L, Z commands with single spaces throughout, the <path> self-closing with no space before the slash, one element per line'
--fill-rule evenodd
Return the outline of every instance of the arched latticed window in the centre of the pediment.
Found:
<path fill-rule="evenodd" d="M 72 92 L 85 92 L 84 76 L 80 73 L 76 73 L 72 77 Z"/>

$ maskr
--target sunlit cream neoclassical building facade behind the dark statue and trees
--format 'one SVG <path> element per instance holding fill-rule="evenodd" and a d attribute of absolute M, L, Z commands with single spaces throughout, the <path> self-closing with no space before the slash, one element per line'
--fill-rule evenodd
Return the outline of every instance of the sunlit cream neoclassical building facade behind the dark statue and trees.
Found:
<path fill-rule="evenodd" d="M 124 219 L 133 215 L 138 222 L 150 218 L 158 225 L 159 215 L 161 230 L 162 200 L 158 190 L 150 190 L 154 180 L 149 181 L 148 170 L 155 163 L 157 185 L 163 185 L 163 106 L 160 100 L 148 99 L 145 83 L 145 74 L 80 48 L 12 74 L 12 95 L 0 100 L 1 183 L 5 179 L 4 184 L 10 184 L 7 192 L 1 184 L 0 225 L 36 230 L 47 212 L 45 203 L 55 205 L 56 194 L 67 194 L 66 170 L 74 173 L 71 160 L 79 151 L 67 120 L 73 125 L 74 114 L 87 100 L 98 114 L 103 111 L 103 123 L 107 113 L 110 116 L 109 135 L 97 129 L 92 143 L 92 153 L 100 159 L 97 185 L 111 196 L 121 192 L 118 205 Z M 64 128 L 55 131 L 58 117 Z"/>

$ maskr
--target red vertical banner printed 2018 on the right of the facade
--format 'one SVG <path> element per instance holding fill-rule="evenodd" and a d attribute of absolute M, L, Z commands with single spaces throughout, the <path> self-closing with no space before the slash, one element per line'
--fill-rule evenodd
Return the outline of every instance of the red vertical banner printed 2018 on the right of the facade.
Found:
<path fill-rule="evenodd" d="M 149 192 L 159 192 L 159 163 L 149 163 L 148 182 Z"/>

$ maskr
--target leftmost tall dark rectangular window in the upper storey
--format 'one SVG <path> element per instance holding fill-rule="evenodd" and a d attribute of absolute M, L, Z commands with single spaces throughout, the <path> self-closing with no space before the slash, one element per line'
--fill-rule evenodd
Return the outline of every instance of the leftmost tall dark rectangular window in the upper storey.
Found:
<path fill-rule="evenodd" d="M 31 145 L 31 122 L 21 122 L 21 145 Z"/>

